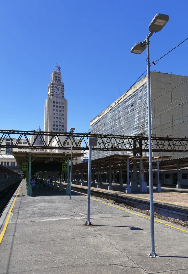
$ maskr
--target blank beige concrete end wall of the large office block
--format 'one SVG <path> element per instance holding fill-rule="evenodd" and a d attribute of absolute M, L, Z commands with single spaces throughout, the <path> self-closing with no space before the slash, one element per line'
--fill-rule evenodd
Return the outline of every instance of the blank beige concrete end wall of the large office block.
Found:
<path fill-rule="evenodd" d="M 185 82 L 187 81 L 187 82 Z M 183 98 L 183 99 L 181 99 Z M 185 137 L 188 122 L 188 77 L 151 72 L 152 134 Z M 179 100 L 181 99 L 181 100 Z M 159 153 L 153 153 L 158 156 Z M 160 153 L 160 156 L 169 153 Z M 171 153 L 175 158 L 187 153 Z"/>

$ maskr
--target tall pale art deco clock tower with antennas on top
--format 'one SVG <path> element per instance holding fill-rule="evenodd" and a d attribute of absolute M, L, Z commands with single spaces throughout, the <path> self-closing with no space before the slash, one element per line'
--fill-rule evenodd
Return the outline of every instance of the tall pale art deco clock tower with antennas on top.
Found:
<path fill-rule="evenodd" d="M 44 107 L 44 131 L 67 132 L 67 100 L 60 66 L 51 74 Z"/>

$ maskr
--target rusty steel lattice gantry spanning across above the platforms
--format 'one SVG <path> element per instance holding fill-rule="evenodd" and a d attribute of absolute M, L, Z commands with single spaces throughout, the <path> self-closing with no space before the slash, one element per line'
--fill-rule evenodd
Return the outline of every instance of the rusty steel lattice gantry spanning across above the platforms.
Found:
<path fill-rule="evenodd" d="M 34 136 L 33 142 L 29 137 Z M 35 145 L 37 138 L 41 139 L 41 145 Z M 49 141 L 47 142 L 48 138 Z M 64 138 L 62 138 L 64 137 Z M 73 133 L 73 149 L 88 150 L 89 137 L 98 138 L 97 146 L 92 150 L 130 151 L 134 154 L 142 155 L 148 152 L 148 136 L 127 136 L 113 134 L 90 134 Z M 16 138 L 16 142 L 13 141 Z M 6 144 L 8 139 L 8 144 Z M 20 140 L 25 139 L 25 144 Z M 63 141 L 62 141 L 63 139 Z M 52 140 L 56 140 L 57 145 L 53 146 Z M 5 144 L 4 144 L 5 143 Z M 69 145 L 67 145 L 69 143 Z M 0 130 L 0 148 L 30 148 L 30 149 L 71 149 L 71 132 L 42 132 L 42 131 L 21 131 L 21 130 Z M 188 138 L 160 137 L 152 136 L 153 152 L 188 152 Z"/>

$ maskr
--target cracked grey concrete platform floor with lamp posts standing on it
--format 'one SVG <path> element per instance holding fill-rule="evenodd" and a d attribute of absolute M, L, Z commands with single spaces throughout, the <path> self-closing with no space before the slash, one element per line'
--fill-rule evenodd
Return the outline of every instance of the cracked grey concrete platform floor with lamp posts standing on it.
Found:
<path fill-rule="evenodd" d="M 160 257 L 152 259 L 147 256 L 147 215 L 92 198 L 93 226 L 85 227 L 85 195 L 72 192 L 69 201 L 64 191 L 41 188 L 36 194 L 25 196 L 23 182 L 0 245 L 0 274 L 188 273 L 184 227 L 156 220 L 155 251 Z"/>

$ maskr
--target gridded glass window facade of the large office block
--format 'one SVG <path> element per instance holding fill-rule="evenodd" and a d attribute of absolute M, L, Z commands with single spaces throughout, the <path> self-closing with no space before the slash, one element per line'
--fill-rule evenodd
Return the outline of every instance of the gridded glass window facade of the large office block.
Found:
<path fill-rule="evenodd" d="M 147 83 L 145 83 L 122 102 L 113 106 L 106 115 L 94 122 L 91 125 L 91 133 L 132 136 L 143 133 L 148 135 L 147 111 Z M 132 155 L 132 152 L 93 150 L 92 159 L 113 154 Z M 147 154 L 147 152 L 143 153 L 143 156 L 147 156 Z"/>

